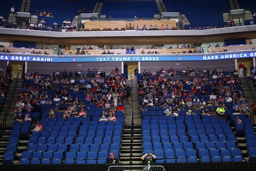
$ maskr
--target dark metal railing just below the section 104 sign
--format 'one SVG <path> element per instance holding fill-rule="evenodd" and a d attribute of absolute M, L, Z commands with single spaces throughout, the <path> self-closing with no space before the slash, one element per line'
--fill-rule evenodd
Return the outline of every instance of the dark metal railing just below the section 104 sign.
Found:
<path fill-rule="evenodd" d="M 167 76 L 204 76 L 209 74 L 210 74 L 209 70 L 193 70 L 193 72 L 190 72 L 189 70 L 172 70 L 172 71 L 159 70 L 156 72 L 156 75 L 158 78 L 167 77 Z"/>

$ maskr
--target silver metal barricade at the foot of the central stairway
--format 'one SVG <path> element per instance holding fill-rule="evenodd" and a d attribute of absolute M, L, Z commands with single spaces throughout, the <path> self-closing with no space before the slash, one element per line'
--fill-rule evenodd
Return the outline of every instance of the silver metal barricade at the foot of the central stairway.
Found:
<path fill-rule="evenodd" d="M 165 171 L 163 166 L 110 166 L 108 171 Z"/>

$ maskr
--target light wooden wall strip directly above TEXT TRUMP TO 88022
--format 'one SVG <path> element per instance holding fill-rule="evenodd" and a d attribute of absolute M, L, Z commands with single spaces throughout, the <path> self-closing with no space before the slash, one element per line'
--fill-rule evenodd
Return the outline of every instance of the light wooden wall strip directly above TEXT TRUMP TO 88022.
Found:
<path fill-rule="evenodd" d="M 105 52 L 107 53 L 108 50 L 111 52 L 113 52 L 114 54 L 126 54 L 126 49 L 105 49 Z M 140 54 L 142 52 L 142 50 L 144 50 L 145 54 L 147 54 L 148 52 L 158 52 L 160 54 L 171 54 L 171 53 L 183 53 L 186 52 L 188 53 L 188 51 L 190 49 L 135 49 L 135 54 Z M 191 49 L 193 52 L 193 49 Z M 80 50 L 81 53 L 82 50 Z M 84 50 L 84 51 L 88 51 L 88 53 L 90 53 L 91 55 L 100 55 L 103 53 L 103 50 Z M 64 50 L 64 55 L 69 55 L 69 53 L 71 52 L 72 55 L 74 55 L 76 53 L 76 50 Z"/>

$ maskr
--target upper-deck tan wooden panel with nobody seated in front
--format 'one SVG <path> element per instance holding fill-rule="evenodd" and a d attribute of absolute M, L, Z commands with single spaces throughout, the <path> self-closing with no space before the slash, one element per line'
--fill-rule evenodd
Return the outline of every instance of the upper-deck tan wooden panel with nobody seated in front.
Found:
<path fill-rule="evenodd" d="M 126 30 L 126 21 L 85 21 L 85 31 Z"/>

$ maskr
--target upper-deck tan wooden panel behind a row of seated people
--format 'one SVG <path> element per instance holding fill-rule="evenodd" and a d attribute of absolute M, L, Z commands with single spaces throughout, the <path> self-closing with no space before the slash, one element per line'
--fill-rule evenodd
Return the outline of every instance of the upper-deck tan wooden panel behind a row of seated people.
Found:
<path fill-rule="evenodd" d="M 142 29 L 142 27 L 146 25 L 147 29 L 149 29 L 150 25 L 152 25 L 153 28 L 155 27 L 155 25 L 157 25 L 158 29 L 160 30 L 161 26 L 164 25 L 165 27 L 166 24 L 168 24 L 171 30 L 172 28 L 176 27 L 176 20 L 135 20 L 134 28 L 139 26 L 139 28 Z"/>

